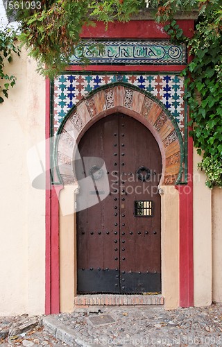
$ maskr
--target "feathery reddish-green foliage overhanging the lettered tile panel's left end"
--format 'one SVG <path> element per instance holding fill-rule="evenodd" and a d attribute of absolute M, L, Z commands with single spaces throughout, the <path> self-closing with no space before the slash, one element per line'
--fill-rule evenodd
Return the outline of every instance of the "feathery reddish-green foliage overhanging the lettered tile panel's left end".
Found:
<path fill-rule="evenodd" d="M 25 10 L 22 3 L 17 11 L 22 33 L 19 40 L 37 60 L 41 74 L 53 78 L 64 69 L 76 46 L 81 46 L 83 26 L 94 26 L 93 17 L 106 24 L 117 19 L 127 21 L 143 0 L 55 0 L 41 1 L 40 8 Z M 87 61 L 86 61 L 87 62 Z"/>

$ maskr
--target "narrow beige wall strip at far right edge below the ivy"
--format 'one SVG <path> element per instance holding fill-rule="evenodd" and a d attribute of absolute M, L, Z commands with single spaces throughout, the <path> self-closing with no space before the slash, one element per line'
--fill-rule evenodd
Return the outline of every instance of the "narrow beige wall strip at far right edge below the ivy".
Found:
<path fill-rule="evenodd" d="M 212 300 L 222 302 L 222 189 L 212 190 Z"/>

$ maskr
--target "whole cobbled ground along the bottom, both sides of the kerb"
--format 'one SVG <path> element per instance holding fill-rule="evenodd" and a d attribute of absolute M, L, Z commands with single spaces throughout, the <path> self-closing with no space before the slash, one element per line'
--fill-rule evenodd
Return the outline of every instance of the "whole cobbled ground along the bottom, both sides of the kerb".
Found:
<path fill-rule="evenodd" d="M 172 311 L 148 306 L 91 306 L 52 318 L 57 328 L 65 325 L 76 337 L 76 346 L 222 346 L 221 304 Z M 41 319 L 1 317 L 1 346 L 67 346 L 35 325 Z M 21 332 L 27 321 L 35 326 Z M 4 331 L 8 331 L 5 336 Z"/>

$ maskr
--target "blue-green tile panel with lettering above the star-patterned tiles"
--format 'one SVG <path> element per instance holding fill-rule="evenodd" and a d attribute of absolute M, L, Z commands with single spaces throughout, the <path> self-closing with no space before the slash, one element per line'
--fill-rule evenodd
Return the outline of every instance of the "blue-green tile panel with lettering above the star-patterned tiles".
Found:
<path fill-rule="evenodd" d="M 169 40 L 153 41 L 83 41 L 76 47 L 71 64 L 186 64 L 185 45 L 174 45 Z M 82 62 L 83 63 L 83 62 Z"/>

